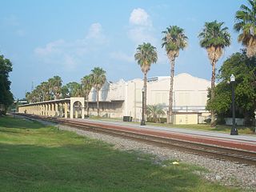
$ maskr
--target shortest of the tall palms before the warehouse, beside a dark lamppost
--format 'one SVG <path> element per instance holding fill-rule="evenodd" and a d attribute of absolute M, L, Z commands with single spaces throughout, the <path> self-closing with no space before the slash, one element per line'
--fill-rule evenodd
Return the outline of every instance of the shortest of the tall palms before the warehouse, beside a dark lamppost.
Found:
<path fill-rule="evenodd" d="M 134 54 L 135 60 L 138 62 L 138 65 L 141 67 L 144 74 L 144 111 L 146 111 L 146 74 L 150 70 L 152 63 L 158 61 L 158 53 L 154 46 L 151 46 L 149 42 L 143 42 L 142 45 L 138 45 L 137 52 Z"/>

